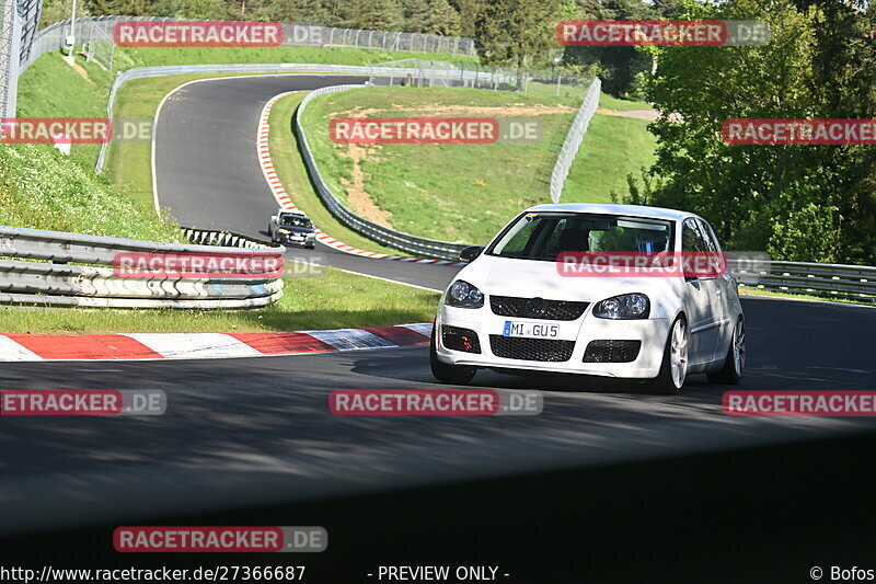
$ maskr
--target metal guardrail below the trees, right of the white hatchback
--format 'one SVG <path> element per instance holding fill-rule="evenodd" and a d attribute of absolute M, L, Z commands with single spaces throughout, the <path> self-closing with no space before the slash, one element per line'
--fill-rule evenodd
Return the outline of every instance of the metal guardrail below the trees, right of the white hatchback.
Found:
<path fill-rule="evenodd" d="M 770 268 L 739 271 L 739 284 L 768 290 L 876 300 L 876 267 L 866 265 L 770 262 Z"/>

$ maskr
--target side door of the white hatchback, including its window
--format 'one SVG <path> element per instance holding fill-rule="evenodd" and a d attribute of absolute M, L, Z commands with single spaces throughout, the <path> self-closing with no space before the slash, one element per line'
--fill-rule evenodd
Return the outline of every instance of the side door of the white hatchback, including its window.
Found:
<path fill-rule="evenodd" d="M 711 251 L 700 224 L 693 218 L 685 219 L 682 225 L 681 251 L 684 254 Z M 705 274 L 684 276 L 691 365 L 708 363 L 714 359 L 723 312 L 721 308 L 723 291 L 719 291 L 716 278 L 702 276 Z"/>

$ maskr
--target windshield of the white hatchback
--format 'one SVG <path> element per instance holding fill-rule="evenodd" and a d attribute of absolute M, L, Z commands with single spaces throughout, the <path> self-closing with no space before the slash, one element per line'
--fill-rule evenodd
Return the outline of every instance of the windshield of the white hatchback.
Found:
<path fill-rule="evenodd" d="M 554 261 L 563 252 L 672 251 L 672 221 L 583 213 L 527 213 L 487 254 Z"/>

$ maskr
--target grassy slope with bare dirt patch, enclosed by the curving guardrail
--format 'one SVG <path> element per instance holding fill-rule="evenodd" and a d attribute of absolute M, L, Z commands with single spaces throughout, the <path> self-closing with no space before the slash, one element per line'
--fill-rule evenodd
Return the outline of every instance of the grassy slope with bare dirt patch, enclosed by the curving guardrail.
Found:
<path fill-rule="evenodd" d="M 521 208 L 549 201 L 577 96 L 461 88 L 371 87 L 322 95 L 303 115 L 314 158 L 342 201 L 394 229 L 460 243 L 489 240 Z M 462 116 L 537 121 L 541 136 L 493 144 L 334 144 L 334 117 Z M 369 216 L 370 199 L 377 207 Z"/>

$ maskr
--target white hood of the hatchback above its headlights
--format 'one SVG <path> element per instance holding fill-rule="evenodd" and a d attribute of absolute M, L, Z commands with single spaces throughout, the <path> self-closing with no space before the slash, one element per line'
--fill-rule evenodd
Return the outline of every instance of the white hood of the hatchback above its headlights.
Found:
<path fill-rule="evenodd" d="M 568 277 L 555 262 L 481 255 L 462 268 L 457 279 L 477 286 L 489 296 L 518 296 L 549 300 L 596 302 L 619 294 L 656 293 L 672 284 L 665 277 Z"/>

